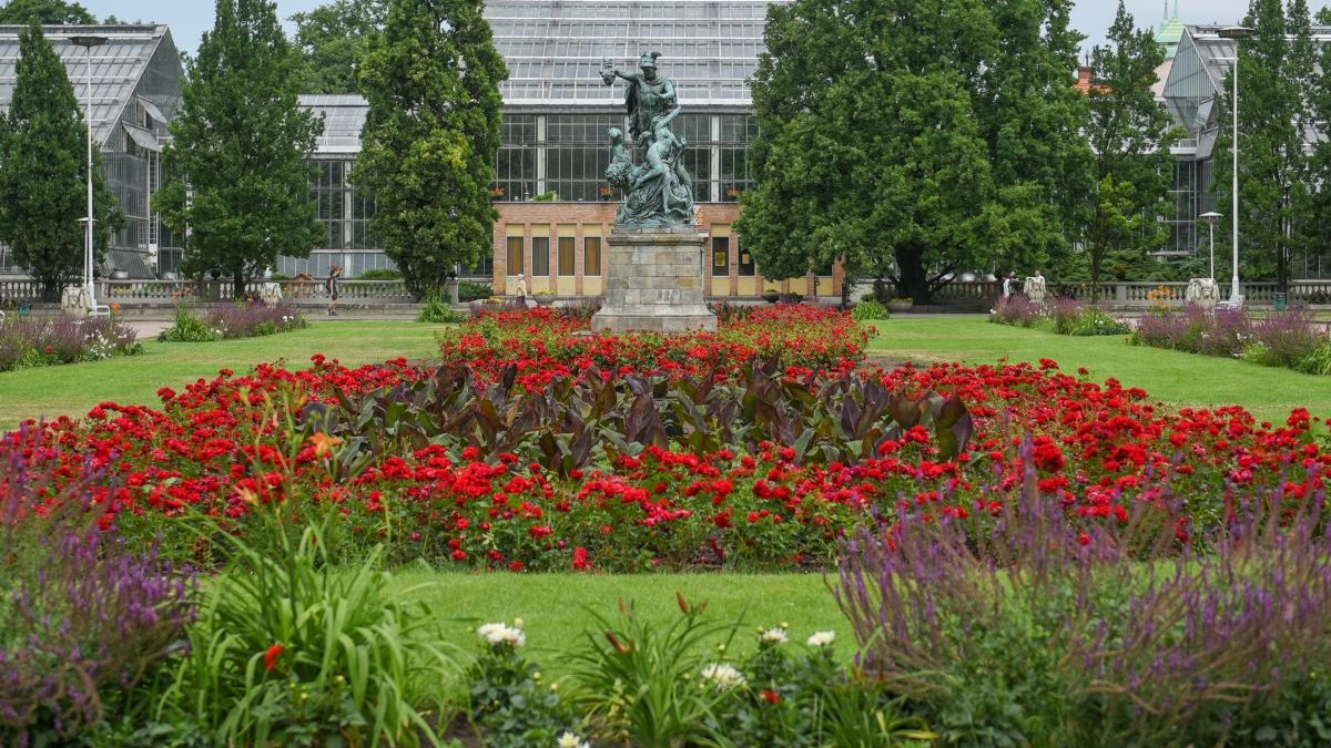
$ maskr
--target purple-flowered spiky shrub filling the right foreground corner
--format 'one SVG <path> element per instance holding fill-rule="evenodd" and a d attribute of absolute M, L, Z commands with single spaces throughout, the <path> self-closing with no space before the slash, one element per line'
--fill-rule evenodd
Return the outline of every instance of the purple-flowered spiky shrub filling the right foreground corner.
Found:
<path fill-rule="evenodd" d="M 1181 518 L 1167 483 L 1138 490 Z M 1079 530 L 1033 467 L 1004 499 L 976 519 L 902 508 L 840 567 L 864 665 L 929 704 L 945 741 L 1210 745 L 1275 725 L 1296 737 L 1283 744 L 1320 741 L 1306 700 L 1282 705 L 1331 660 L 1320 492 L 1290 512 L 1264 508 L 1282 490 L 1235 499 L 1187 546 L 1209 552 L 1181 550 L 1190 527 L 1145 504 L 1117 531 Z"/>

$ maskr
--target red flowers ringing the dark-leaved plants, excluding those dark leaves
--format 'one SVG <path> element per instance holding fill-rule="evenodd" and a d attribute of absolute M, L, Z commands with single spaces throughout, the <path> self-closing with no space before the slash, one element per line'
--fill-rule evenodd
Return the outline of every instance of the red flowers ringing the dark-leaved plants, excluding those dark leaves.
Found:
<path fill-rule="evenodd" d="M 792 307 L 755 317 L 744 327 L 755 338 L 748 347 L 731 329 L 635 349 L 640 337 L 570 341 L 578 325 L 546 310 L 495 315 L 465 326 L 447 355 L 461 361 L 473 351 L 478 377 L 492 379 L 496 359 L 536 350 L 539 359 L 518 365 L 523 381 L 539 386 L 598 369 L 603 377 L 643 370 L 683 377 L 715 367 L 724 378 L 736 357 L 764 346 L 807 354 L 787 359 L 795 371 L 835 377 L 857 361 L 840 353 L 828 361 L 831 350 L 862 350 L 862 338 L 848 335 L 837 347 L 827 330 L 795 331 L 809 323 L 849 330 L 843 315 Z M 800 465 L 793 445 L 780 443 L 753 454 L 651 446 L 567 476 L 516 454 L 487 463 L 475 450 L 439 445 L 369 450 L 359 465 L 339 461 L 334 439 L 322 434 L 327 423 L 318 421 L 335 417 L 337 407 L 314 403 L 430 373 L 401 359 L 350 370 L 322 357 L 303 371 L 270 365 L 241 377 L 222 371 L 181 393 L 162 389 L 160 409 L 102 403 L 83 421 L 28 425 L 5 435 L 0 451 L 17 453 L 31 472 L 52 475 L 56 484 L 81 476 L 91 462 L 104 475 L 96 498 L 112 502 L 122 534 L 176 532 L 177 550 L 193 547 L 193 536 L 162 518 L 205 512 L 244 531 L 254 503 L 294 498 L 294 512 L 335 508 L 349 539 L 385 540 L 397 559 L 514 570 L 823 563 L 857 523 L 892 523 L 906 507 L 978 519 L 1024 480 L 1087 523 L 1118 522 L 1133 502 L 1163 507 L 1175 496 L 1186 506 L 1179 524 L 1186 539 L 1197 526 L 1222 522 L 1236 494 L 1296 500 L 1322 484 L 1316 468 L 1331 465 L 1304 410 L 1275 426 L 1240 407 L 1174 413 L 1142 390 L 1067 375 L 1051 361 L 852 374 L 880 377 L 896 391 L 960 395 L 976 434 L 954 461 L 940 459 L 924 427 L 884 441 L 877 457 L 853 465 Z M 19 479 L 0 476 L 0 487 Z M 37 491 L 39 512 L 47 499 Z"/>

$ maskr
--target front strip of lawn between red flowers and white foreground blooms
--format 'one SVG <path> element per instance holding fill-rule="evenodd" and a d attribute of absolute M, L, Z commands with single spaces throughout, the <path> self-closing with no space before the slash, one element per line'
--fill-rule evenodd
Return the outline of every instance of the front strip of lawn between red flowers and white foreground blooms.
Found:
<path fill-rule="evenodd" d="M 442 616 L 450 642 L 467 652 L 479 639 L 470 628 L 482 623 L 523 619 L 527 652 L 551 676 L 567 673 L 564 655 L 586 646 L 592 627 L 588 611 L 618 622 L 619 600 L 632 600 L 639 615 L 668 624 L 679 616 L 675 592 L 689 603 L 707 603 L 707 620 L 741 623 L 733 652 L 756 650 L 756 627 L 788 623 L 791 640 L 803 643 L 815 631 L 836 631 L 843 656 L 855 644 L 845 618 L 819 574 L 459 574 L 403 570 L 398 590 L 425 584 L 415 592 Z M 595 635 L 599 638 L 600 631 Z"/>

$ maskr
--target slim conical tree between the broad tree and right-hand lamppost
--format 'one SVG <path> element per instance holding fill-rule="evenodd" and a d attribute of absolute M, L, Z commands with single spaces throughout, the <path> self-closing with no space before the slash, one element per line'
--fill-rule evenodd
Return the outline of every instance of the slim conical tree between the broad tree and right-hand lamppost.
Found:
<path fill-rule="evenodd" d="M 1085 240 L 1093 291 L 1106 262 L 1137 265 L 1167 240 L 1158 216 L 1173 212 L 1170 146 L 1179 137 L 1151 92 L 1165 53 L 1151 31 L 1137 29 L 1122 0 L 1107 40 L 1091 52 L 1094 84 L 1086 93 L 1086 136 L 1095 154 Z"/>

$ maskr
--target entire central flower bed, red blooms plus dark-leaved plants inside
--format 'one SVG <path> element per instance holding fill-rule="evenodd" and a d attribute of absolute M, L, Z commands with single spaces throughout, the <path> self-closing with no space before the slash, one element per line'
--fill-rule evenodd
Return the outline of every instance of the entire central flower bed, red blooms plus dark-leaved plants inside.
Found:
<path fill-rule="evenodd" d="M 224 370 L 164 387 L 160 409 L 108 402 L 83 421 L 25 425 L 4 449 L 51 476 L 39 503 L 91 463 L 121 532 L 165 532 L 178 554 L 197 554 L 197 539 L 162 518 L 206 512 L 244 532 L 254 506 L 294 496 L 297 514 L 335 504 L 350 540 L 386 542 L 394 559 L 616 571 L 825 563 L 853 527 L 892 523 L 901 506 L 996 514 L 1028 466 L 1087 527 L 1179 496 L 1185 516 L 1171 522 L 1186 540 L 1235 495 L 1310 495 L 1331 463 L 1307 411 L 1282 425 L 1240 407 L 1173 413 L 1047 359 L 865 367 L 858 327 L 813 307 L 764 309 L 715 335 L 582 325 L 546 310 L 484 315 L 442 342 L 443 374 L 318 355 L 302 371 Z M 763 367 L 755 354 L 781 359 Z M 449 371 L 466 386 L 438 385 Z M 614 403 L 594 429 L 575 393 L 595 381 Z M 938 407 L 952 401 L 965 429 Z"/>

